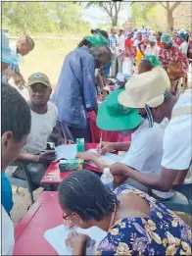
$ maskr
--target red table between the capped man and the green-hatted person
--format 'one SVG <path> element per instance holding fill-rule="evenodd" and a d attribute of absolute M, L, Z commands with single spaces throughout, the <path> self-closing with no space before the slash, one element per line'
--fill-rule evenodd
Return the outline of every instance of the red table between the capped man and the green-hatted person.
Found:
<path fill-rule="evenodd" d="M 91 148 L 96 148 L 97 145 L 98 145 L 97 143 L 86 143 L 85 149 L 89 150 Z M 87 164 L 85 164 L 85 169 L 101 173 L 101 171 L 99 171 L 98 168 L 94 168 Z M 70 174 L 72 174 L 72 172 L 60 172 L 59 163 L 53 162 L 47 169 L 43 179 L 41 179 L 41 183 L 42 184 L 59 184 L 63 179 L 68 177 Z"/>

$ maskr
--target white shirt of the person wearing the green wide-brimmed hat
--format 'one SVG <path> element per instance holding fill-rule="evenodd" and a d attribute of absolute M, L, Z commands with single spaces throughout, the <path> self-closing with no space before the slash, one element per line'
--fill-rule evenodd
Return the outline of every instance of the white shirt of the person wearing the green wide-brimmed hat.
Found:
<path fill-rule="evenodd" d="M 141 173 L 159 175 L 163 156 L 164 129 L 145 120 L 131 137 L 129 150 L 122 163 Z"/>

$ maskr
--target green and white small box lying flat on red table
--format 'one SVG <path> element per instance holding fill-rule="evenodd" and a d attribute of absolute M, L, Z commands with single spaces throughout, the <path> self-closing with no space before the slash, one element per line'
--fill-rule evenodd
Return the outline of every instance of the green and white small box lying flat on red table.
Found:
<path fill-rule="evenodd" d="M 82 171 L 84 168 L 84 160 L 82 159 L 68 159 L 60 160 L 59 169 L 61 172 L 66 171 Z"/>

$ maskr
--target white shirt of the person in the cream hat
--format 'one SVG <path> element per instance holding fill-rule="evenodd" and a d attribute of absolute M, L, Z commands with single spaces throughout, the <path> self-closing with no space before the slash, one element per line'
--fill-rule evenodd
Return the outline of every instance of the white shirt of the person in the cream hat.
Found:
<path fill-rule="evenodd" d="M 173 110 L 192 106 L 192 94 L 182 94 Z M 164 136 L 162 166 L 172 170 L 186 170 L 192 160 L 192 115 L 171 118 Z"/>

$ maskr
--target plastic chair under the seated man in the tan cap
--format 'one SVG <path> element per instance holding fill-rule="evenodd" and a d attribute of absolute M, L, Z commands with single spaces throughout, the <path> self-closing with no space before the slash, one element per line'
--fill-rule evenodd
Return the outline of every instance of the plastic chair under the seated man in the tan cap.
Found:
<path fill-rule="evenodd" d="M 30 179 L 30 176 L 27 172 L 27 169 L 26 169 L 26 164 L 27 163 L 24 163 L 24 162 L 21 162 L 21 161 L 15 161 L 11 166 L 21 166 L 24 170 L 24 176 L 25 176 L 25 180 L 24 179 L 18 179 L 18 178 L 15 178 L 13 176 L 13 170 L 11 169 L 8 169 L 6 170 L 6 176 L 7 178 L 9 179 L 10 183 L 12 185 L 16 185 L 18 187 L 24 187 L 28 190 L 28 193 L 29 193 L 29 196 L 30 196 L 30 205 L 32 205 L 34 203 L 34 198 L 33 198 L 33 191 L 36 190 L 39 186 L 37 185 L 34 185 L 32 182 L 31 182 L 31 179 Z"/>

